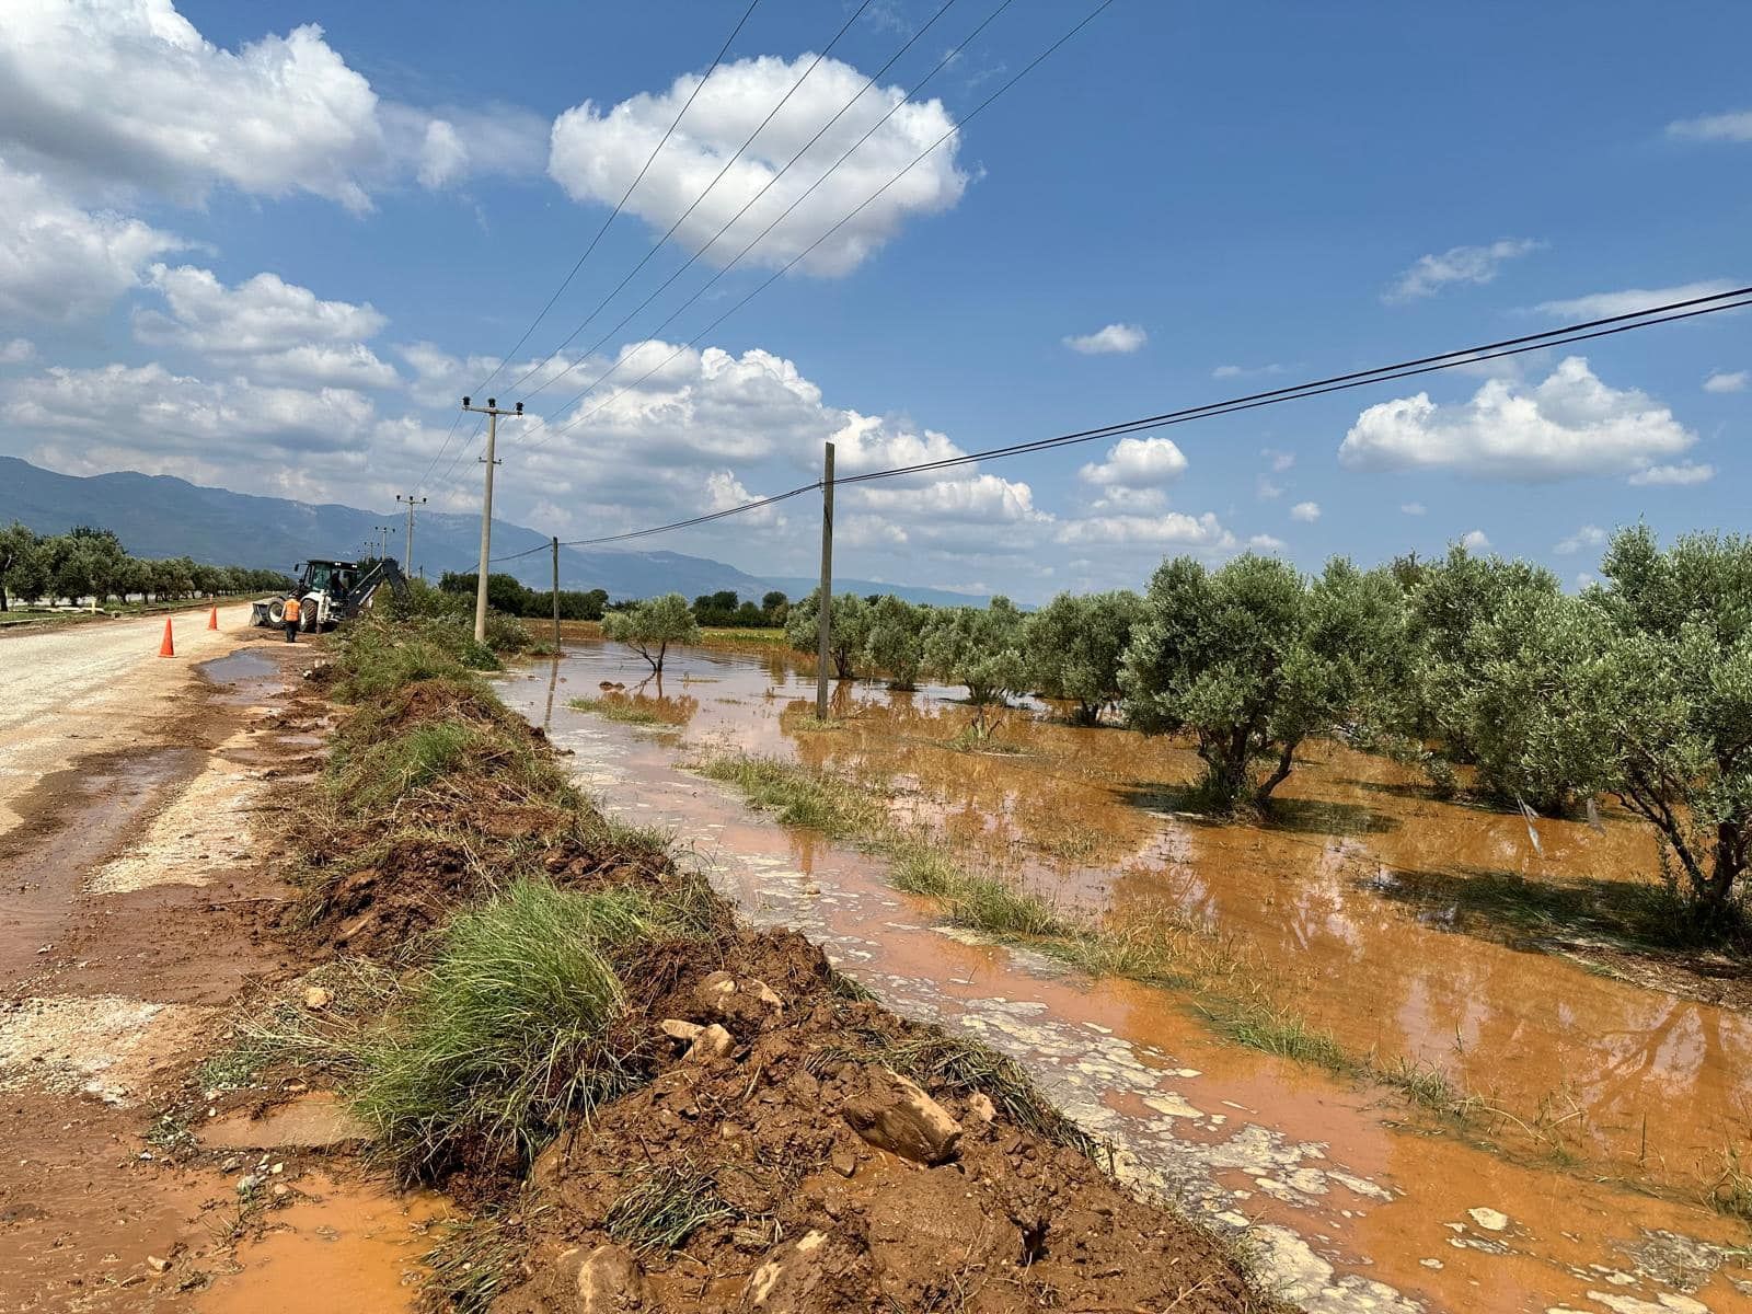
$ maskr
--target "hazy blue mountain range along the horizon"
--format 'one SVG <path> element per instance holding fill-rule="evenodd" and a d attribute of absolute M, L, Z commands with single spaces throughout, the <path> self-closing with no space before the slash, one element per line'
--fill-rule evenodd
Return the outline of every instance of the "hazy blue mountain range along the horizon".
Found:
<path fill-rule="evenodd" d="M 394 526 L 392 555 L 401 555 L 399 512 L 368 512 L 338 503 L 300 503 L 261 498 L 230 489 L 208 489 L 172 475 L 60 475 L 12 456 L 0 456 L 0 524 L 19 520 L 39 534 L 67 533 L 77 524 L 114 529 L 123 545 L 142 557 L 193 557 L 214 566 L 259 566 L 296 571 L 307 557 L 350 559 L 363 555 L 377 526 Z M 545 548 L 547 534 L 508 520 L 492 522 L 492 555 Z M 480 559 L 480 517 L 420 512 L 413 522 L 413 566 L 434 580 L 443 571 L 473 571 Z M 531 552 L 494 569 L 515 575 L 533 589 L 554 578 L 547 552 Z M 680 592 L 736 590 L 759 601 L 771 589 L 792 597 L 806 594 L 806 578 L 760 578 L 711 557 L 682 552 L 638 552 L 615 548 L 569 548 L 559 552 L 562 589 L 606 589 L 611 597 L 653 597 Z M 834 580 L 834 592 L 894 592 L 915 603 L 953 606 L 985 603 L 985 597 L 874 583 Z"/>

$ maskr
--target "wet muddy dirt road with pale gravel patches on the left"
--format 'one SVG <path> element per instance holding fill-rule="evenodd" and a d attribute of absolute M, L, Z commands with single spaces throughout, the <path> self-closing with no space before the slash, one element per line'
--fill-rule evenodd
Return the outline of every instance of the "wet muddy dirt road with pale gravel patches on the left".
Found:
<path fill-rule="evenodd" d="M 312 648 L 247 617 L 179 613 L 173 659 L 163 617 L 0 636 L 7 1314 L 401 1310 L 447 1212 L 231 1097 L 187 1118 L 224 1018 L 303 967 L 273 929 L 273 787 L 319 745 L 289 715 Z"/>

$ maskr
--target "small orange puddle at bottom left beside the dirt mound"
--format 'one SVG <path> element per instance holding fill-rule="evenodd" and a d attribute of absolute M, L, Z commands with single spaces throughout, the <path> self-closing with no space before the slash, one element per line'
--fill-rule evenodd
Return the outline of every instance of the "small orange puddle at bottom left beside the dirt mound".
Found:
<path fill-rule="evenodd" d="M 426 1228 L 447 1204 L 424 1191 L 391 1197 L 322 1174 L 298 1183 L 307 1197 L 266 1218 L 272 1228 L 237 1249 L 242 1272 L 215 1277 L 194 1298 L 201 1314 L 410 1310 L 431 1249 Z"/>

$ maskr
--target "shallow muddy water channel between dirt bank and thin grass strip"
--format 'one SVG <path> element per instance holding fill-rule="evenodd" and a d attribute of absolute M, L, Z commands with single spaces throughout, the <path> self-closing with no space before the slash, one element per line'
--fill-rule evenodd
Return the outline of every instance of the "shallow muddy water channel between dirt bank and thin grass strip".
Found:
<path fill-rule="evenodd" d="M 597 668 L 568 666 L 596 682 Z M 554 717 L 545 671 L 505 694 L 531 720 Z M 1752 1296 L 1719 1218 L 1393 1132 L 1367 1093 L 1221 1046 L 1184 1018 L 1162 1025 L 1172 1006 L 1160 993 L 1091 988 L 920 922 L 869 858 L 787 836 L 683 773 L 673 746 L 564 711 L 550 734 L 610 813 L 675 829 L 755 925 L 802 930 L 885 1004 L 1018 1058 L 1116 1146 L 1123 1177 L 1244 1235 L 1303 1309 L 1701 1314 Z M 1300 1125 L 1286 1104 L 1303 1106 Z"/>

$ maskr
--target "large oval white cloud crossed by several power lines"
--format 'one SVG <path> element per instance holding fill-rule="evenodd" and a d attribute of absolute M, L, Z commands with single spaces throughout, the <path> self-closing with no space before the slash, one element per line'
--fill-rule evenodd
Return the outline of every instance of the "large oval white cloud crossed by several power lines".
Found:
<path fill-rule="evenodd" d="M 944 144 L 892 187 L 865 205 L 850 223 L 816 247 L 799 268 L 816 275 L 843 275 L 862 265 L 888 242 L 909 217 L 951 208 L 967 187 L 967 175 L 955 163 L 960 144 L 955 121 L 937 100 L 904 103 L 901 88 L 871 88 L 858 95 L 865 75 L 839 60 L 823 60 L 804 77 L 813 54 L 795 60 L 762 56 L 720 65 L 694 100 L 680 130 L 669 138 L 627 208 L 653 230 L 668 230 L 701 194 L 774 105 L 785 100 L 753 144 L 711 193 L 694 207 L 676 231 L 692 251 L 703 249 L 781 168 L 804 151 L 822 124 L 850 109 L 809 145 L 797 163 L 734 221 L 708 259 L 729 263 L 748 242 L 806 191 L 797 210 L 750 252 L 759 265 L 785 265 L 801 254 L 837 219 L 851 212 L 901 173 L 922 151 L 944 133 Z M 566 110 L 554 121 L 548 173 L 576 201 L 617 203 L 650 158 L 676 112 L 699 86 L 697 74 L 685 74 L 668 91 L 641 93 L 618 105 L 594 102 Z M 901 105 L 871 138 L 853 144 Z M 827 170 L 851 149 L 844 165 Z M 815 191 L 811 184 L 822 180 Z"/>

